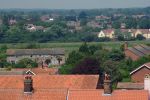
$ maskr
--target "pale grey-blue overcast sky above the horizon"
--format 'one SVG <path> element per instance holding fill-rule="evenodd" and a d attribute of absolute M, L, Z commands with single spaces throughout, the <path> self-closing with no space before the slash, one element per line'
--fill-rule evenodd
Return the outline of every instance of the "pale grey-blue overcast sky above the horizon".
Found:
<path fill-rule="evenodd" d="M 0 0 L 0 8 L 91 9 L 150 6 L 150 0 Z"/>

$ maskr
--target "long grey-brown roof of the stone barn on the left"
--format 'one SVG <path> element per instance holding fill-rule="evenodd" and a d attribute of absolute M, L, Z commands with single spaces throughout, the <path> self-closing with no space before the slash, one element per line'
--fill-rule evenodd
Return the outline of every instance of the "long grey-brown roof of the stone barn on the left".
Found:
<path fill-rule="evenodd" d="M 6 51 L 9 56 L 20 55 L 64 55 L 64 49 L 8 49 Z"/>

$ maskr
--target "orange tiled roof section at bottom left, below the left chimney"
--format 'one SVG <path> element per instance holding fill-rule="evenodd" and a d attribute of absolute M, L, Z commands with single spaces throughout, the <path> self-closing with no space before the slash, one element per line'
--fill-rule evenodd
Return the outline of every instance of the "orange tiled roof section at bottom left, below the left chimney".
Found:
<path fill-rule="evenodd" d="M 66 89 L 38 89 L 24 94 L 21 89 L 0 89 L 0 100 L 66 100 Z"/>

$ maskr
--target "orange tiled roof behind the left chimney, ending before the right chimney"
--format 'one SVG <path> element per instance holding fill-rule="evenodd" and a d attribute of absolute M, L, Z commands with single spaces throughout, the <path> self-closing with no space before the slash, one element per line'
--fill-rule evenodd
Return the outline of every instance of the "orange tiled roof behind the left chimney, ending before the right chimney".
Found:
<path fill-rule="evenodd" d="M 33 87 L 35 89 L 96 89 L 98 75 L 35 75 Z M 0 88 L 23 89 L 24 76 L 0 76 Z"/>

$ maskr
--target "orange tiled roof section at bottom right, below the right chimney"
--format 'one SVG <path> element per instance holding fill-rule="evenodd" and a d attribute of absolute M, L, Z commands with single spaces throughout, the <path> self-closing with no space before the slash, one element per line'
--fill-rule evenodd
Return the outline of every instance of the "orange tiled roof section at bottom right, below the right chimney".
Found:
<path fill-rule="evenodd" d="M 115 90 L 104 95 L 103 90 L 75 90 L 69 91 L 69 100 L 148 100 L 148 91 Z"/>

